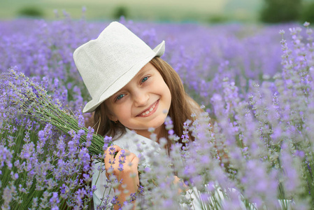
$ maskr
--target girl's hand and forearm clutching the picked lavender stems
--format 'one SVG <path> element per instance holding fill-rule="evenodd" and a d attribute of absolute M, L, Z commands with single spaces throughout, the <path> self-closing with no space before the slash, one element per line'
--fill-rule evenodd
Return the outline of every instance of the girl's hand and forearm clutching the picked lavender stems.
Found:
<path fill-rule="evenodd" d="M 128 150 L 122 150 L 120 146 L 110 146 L 105 151 L 106 176 L 109 179 L 114 174 L 117 181 L 120 195 L 118 200 L 123 204 L 131 193 L 136 193 L 139 186 L 138 179 L 138 158 Z"/>

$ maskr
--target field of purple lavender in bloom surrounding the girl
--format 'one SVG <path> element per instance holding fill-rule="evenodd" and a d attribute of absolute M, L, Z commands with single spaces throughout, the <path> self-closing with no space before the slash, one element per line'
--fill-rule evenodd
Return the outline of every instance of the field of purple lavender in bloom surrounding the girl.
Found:
<path fill-rule="evenodd" d="M 311 26 L 120 21 L 152 48 L 166 41 L 162 58 L 205 111 L 177 134 L 188 142 L 191 132 L 193 143 L 181 150 L 174 138 L 171 153 L 162 150 L 154 167 L 140 165 L 146 202 L 138 208 L 314 208 Z M 89 94 L 72 54 L 108 24 L 69 17 L 0 22 L 2 209 L 92 208 L 91 169 L 101 155 L 88 151 L 93 130 L 83 129 L 90 114 L 81 109 Z M 73 112 L 78 130 L 64 133 L 31 116 L 35 108 L 22 109 L 29 94 L 35 103 L 46 92 L 60 111 Z M 173 175 L 189 190 L 178 193 L 184 187 Z M 115 202 L 104 197 L 94 209 Z"/>

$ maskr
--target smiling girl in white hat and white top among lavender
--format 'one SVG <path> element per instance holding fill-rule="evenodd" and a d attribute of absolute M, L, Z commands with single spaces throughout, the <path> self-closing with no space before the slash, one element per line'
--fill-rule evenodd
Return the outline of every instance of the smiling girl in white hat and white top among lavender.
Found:
<path fill-rule="evenodd" d="M 136 144 L 140 141 L 148 148 L 156 148 L 157 142 L 150 139 L 150 128 L 155 129 L 157 139 L 167 139 L 164 121 L 170 116 L 174 132 L 181 135 L 183 123 L 192 118 L 192 113 L 200 111 L 198 104 L 185 93 L 178 73 L 160 58 L 163 54 L 164 41 L 152 50 L 119 22 L 112 22 L 97 39 L 73 53 L 92 97 L 83 112 L 94 111 L 95 130 L 113 137 L 115 144 L 105 151 L 104 172 L 97 170 L 100 163 L 95 166 L 95 207 L 106 204 L 106 195 L 113 195 L 107 188 L 112 175 L 120 181 L 115 188 L 118 196 L 114 209 L 129 200 L 131 193 L 136 193 L 140 155 Z M 170 148 L 168 139 L 167 149 Z M 121 158 L 125 160 L 122 165 Z"/>

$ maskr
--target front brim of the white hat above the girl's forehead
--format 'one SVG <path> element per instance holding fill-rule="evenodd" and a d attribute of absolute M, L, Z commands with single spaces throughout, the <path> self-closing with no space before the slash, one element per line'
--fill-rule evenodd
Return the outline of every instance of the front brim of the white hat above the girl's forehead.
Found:
<path fill-rule="evenodd" d="M 159 45 L 157 45 L 152 50 L 151 55 L 148 55 L 148 57 L 145 57 L 140 62 L 137 62 L 134 66 L 132 66 L 129 69 L 129 71 L 124 73 L 123 76 L 117 78 L 115 83 L 108 87 L 107 90 L 104 90 L 104 92 L 100 95 L 98 99 L 92 99 L 90 102 L 88 102 L 83 109 L 83 113 L 94 111 L 102 102 L 104 102 L 110 96 L 118 92 L 120 89 L 122 89 L 122 87 L 127 85 L 127 83 L 129 83 L 129 81 L 131 81 L 131 79 L 134 78 L 134 76 L 136 76 L 136 73 L 138 73 L 138 71 L 140 71 L 143 68 L 143 66 L 145 66 L 145 64 L 148 64 L 148 62 L 150 62 L 152 58 L 164 55 L 164 50 L 165 44 L 164 41 L 162 41 L 162 43 L 159 43 Z"/>

